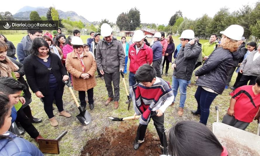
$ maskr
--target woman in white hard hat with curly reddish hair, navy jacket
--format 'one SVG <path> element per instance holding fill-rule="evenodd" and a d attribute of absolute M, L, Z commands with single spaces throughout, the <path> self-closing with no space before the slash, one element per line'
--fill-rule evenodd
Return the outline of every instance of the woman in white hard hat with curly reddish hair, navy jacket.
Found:
<path fill-rule="evenodd" d="M 228 71 L 233 66 L 233 55 L 238 48 L 238 40 L 244 33 L 240 25 L 230 25 L 222 34 L 221 47 L 217 47 L 203 66 L 195 72 L 197 76 L 195 92 L 197 100 L 197 110 L 191 111 L 193 114 L 200 114 L 200 123 L 207 125 L 209 117 L 209 107 L 215 97 L 222 94 L 226 86 Z"/>

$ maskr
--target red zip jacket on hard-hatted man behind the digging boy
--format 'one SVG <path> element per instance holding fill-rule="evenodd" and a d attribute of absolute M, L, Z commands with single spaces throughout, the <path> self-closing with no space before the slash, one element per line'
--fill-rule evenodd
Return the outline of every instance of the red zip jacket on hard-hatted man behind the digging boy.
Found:
<path fill-rule="evenodd" d="M 130 59 L 129 71 L 135 74 L 143 64 L 152 64 L 152 49 L 144 43 L 143 48 L 136 55 L 136 44 L 131 44 L 128 58 Z"/>

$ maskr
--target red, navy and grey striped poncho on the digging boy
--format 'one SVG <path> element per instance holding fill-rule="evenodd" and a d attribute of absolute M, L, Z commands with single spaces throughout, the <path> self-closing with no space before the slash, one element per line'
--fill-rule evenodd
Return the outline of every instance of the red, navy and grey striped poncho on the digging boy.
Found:
<path fill-rule="evenodd" d="M 158 77 L 156 77 L 158 78 Z M 159 78 L 161 82 L 145 87 L 140 83 L 130 86 L 130 95 L 134 104 L 134 111 L 141 115 L 139 123 L 147 125 L 150 121 L 151 111 L 154 107 L 161 107 L 164 101 L 173 96 L 169 83 Z"/>

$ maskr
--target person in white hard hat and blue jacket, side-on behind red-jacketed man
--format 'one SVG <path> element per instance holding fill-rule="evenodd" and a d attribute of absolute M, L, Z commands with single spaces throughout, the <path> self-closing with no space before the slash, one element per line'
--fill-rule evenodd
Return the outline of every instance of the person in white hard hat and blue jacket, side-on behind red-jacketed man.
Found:
<path fill-rule="evenodd" d="M 156 76 L 159 78 L 162 78 L 160 66 L 162 64 L 162 44 L 160 42 L 161 40 L 161 33 L 155 32 L 154 38 L 153 38 L 153 44 L 152 44 L 152 66 L 155 68 Z"/>

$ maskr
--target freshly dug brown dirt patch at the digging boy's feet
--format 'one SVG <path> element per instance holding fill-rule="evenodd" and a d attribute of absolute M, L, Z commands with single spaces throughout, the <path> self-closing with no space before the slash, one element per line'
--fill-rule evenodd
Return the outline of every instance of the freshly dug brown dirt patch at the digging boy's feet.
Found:
<path fill-rule="evenodd" d="M 130 121 L 131 122 L 131 121 Z M 138 126 L 129 122 L 122 122 L 118 128 L 105 128 L 99 138 L 89 140 L 81 155 L 160 155 L 160 141 L 158 137 L 146 131 L 145 142 L 138 150 L 133 149 Z"/>

